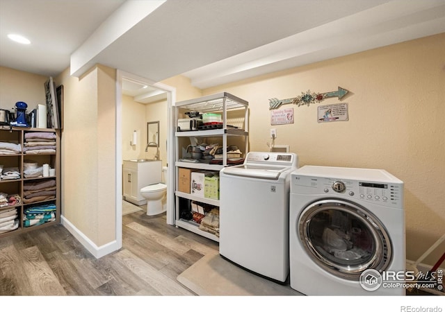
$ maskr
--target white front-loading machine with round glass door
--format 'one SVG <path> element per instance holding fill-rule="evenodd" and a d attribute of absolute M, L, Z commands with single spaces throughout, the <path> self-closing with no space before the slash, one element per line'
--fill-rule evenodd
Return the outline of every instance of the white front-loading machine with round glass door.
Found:
<path fill-rule="evenodd" d="M 291 288 L 405 294 L 401 180 L 379 169 L 303 166 L 291 174 L 289 205 Z"/>

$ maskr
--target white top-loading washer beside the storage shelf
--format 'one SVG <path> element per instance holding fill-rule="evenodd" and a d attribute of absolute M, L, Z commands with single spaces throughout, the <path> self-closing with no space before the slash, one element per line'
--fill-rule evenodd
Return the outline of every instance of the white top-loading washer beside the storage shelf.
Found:
<path fill-rule="evenodd" d="M 294 153 L 250 152 L 220 171 L 220 255 L 274 281 L 289 276 L 289 180 Z"/>

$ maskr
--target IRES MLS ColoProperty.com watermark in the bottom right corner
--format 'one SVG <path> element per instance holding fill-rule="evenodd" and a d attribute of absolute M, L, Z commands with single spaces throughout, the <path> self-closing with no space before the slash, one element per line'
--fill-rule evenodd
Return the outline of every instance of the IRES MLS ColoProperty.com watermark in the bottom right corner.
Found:
<path fill-rule="evenodd" d="M 436 272 L 414 271 L 382 271 L 368 269 L 362 272 L 359 279 L 360 286 L 365 291 L 376 291 L 378 288 L 430 288 L 442 291 L 443 270 Z"/>

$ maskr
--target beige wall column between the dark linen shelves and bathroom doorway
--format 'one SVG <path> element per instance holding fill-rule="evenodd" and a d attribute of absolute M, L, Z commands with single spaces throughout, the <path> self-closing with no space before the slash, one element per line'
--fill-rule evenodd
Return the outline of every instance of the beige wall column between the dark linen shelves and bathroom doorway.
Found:
<path fill-rule="evenodd" d="M 63 216 L 95 245 L 115 240 L 115 70 L 82 78 L 66 69 L 62 132 Z"/>

